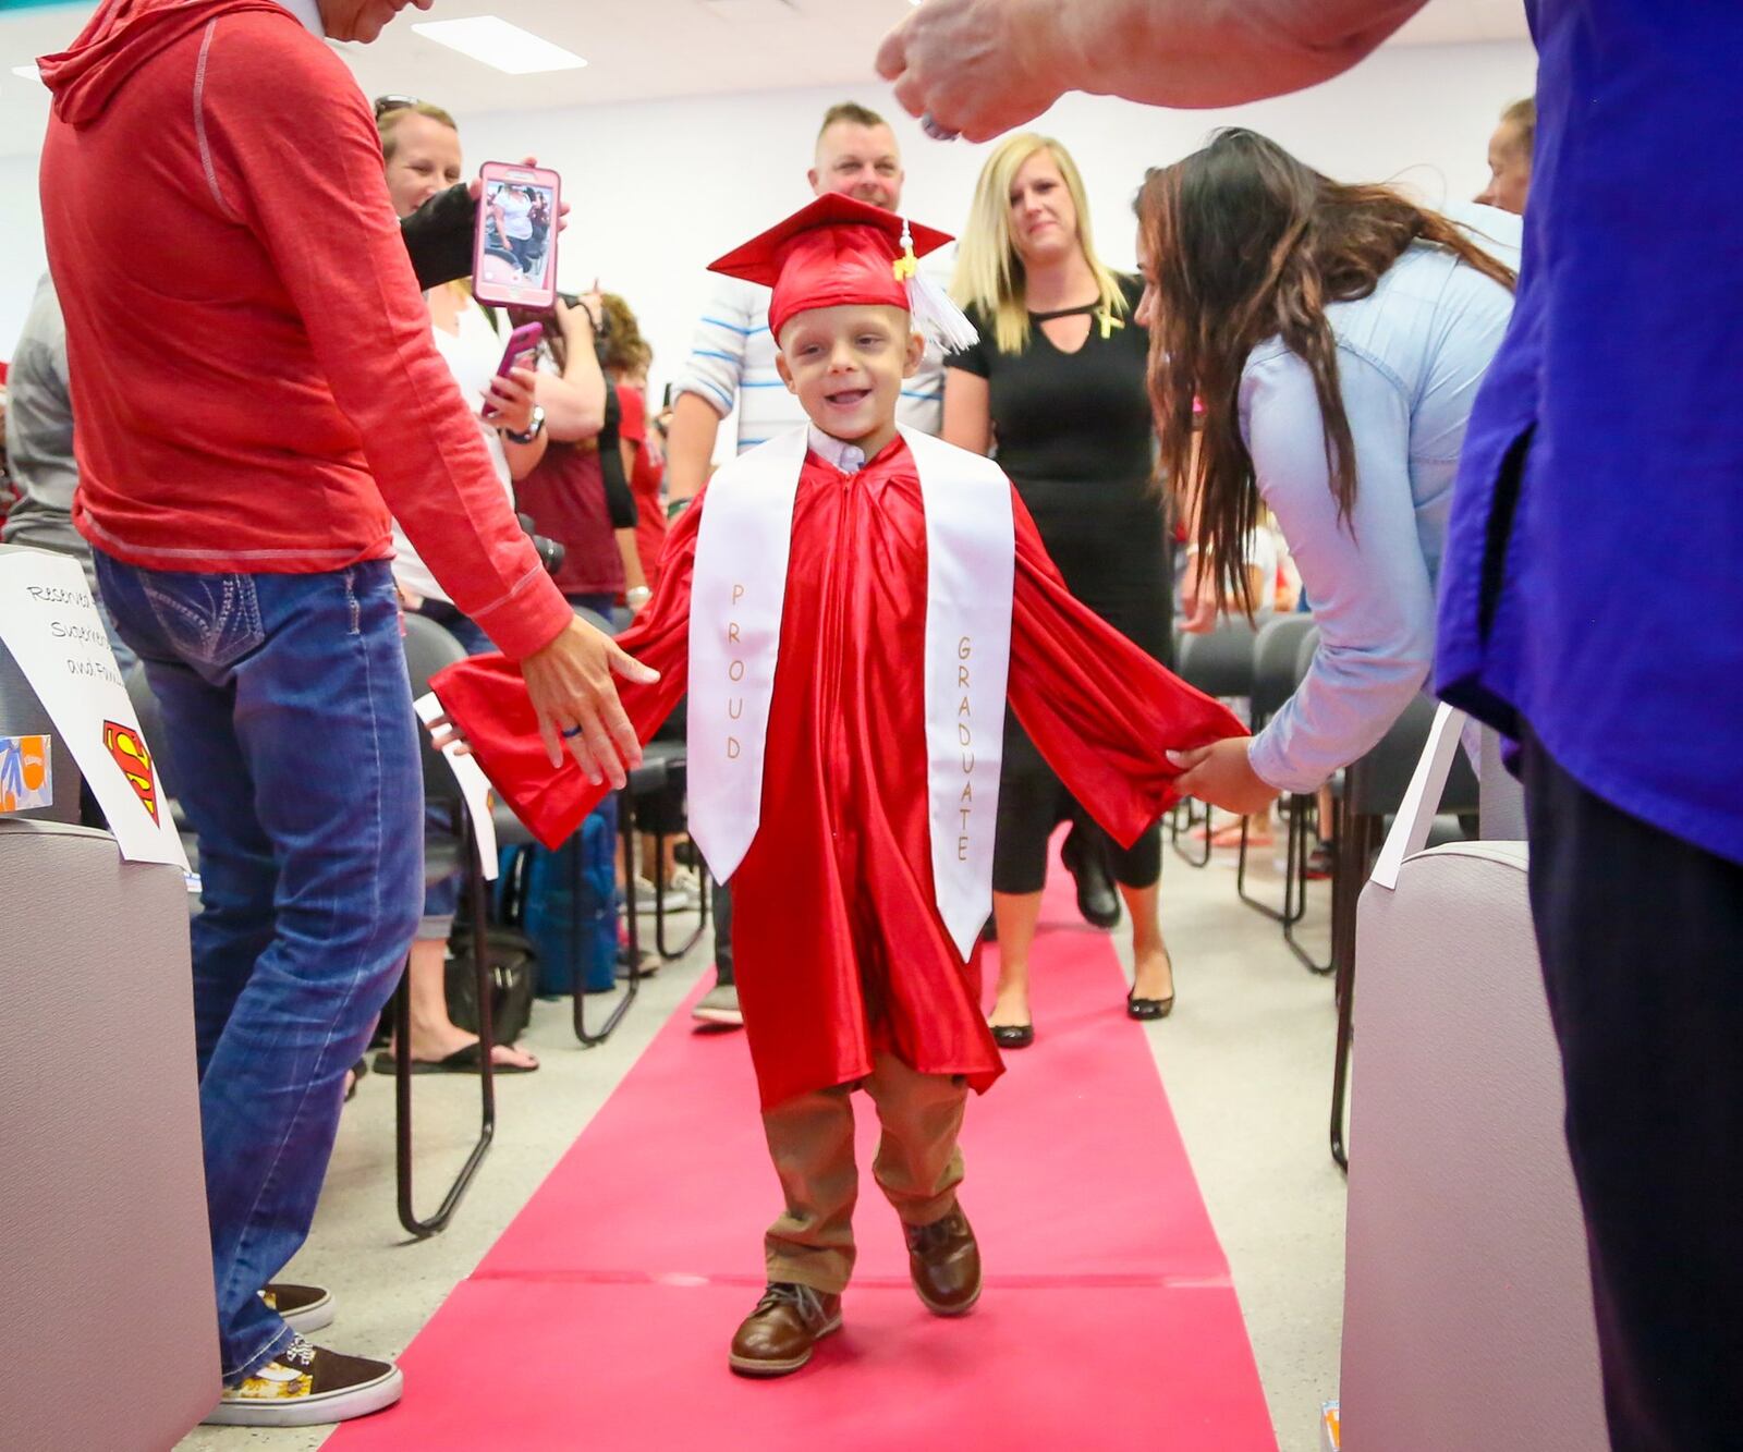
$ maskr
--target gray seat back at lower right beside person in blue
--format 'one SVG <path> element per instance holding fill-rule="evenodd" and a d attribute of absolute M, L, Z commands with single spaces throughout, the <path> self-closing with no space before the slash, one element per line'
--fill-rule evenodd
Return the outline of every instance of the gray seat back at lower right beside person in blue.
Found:
<path fill-rule="evenodd" d="M 1344 1452 L 1602 1452 L 1525 844 L 1370 882 L 1356 962 Z"/>

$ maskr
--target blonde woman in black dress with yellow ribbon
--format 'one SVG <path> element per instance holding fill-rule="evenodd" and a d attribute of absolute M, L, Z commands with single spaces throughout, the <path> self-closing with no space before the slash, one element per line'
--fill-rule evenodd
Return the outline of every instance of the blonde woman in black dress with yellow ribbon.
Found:
<path fill-rule="evenodd" d="M 1142 282 L 1096 260 L 1082 181 L 1058 141 L 1013 136 L 992 153 L 952 291 L 981 342 L 946 359 L 945 439 L 994 453 L 1072 594 L 1166 661 L 1171 542 L 1152 478 L 1149 338 L 1133 316 Z M 1163 1018 L 1173 1008 L 1157 913 L 1159 830 L 1121 849 L 1007 718 L 994 852 L 1000 969 L 990 1018 L 1004 1048 L 1034 1041 L 1028 953 L 1048 838 L 1063 819 L 1072 821 L 1067 866 L 1086 915 L 1098 908 L 1095 880 L 1109 868 L 1131 913 L 1136 974 L 1128 1011 Z"/>

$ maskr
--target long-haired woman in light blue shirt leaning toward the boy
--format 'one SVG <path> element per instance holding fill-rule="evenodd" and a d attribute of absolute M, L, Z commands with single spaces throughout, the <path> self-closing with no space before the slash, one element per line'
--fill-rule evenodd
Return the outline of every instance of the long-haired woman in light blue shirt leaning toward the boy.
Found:
<path fill-rule="evenodd" d="M 1497 258 L 1518 246 L 1518 218 L 1461 211 L 1335 183 L 1250 131 L 1145 181 L 1138 316 L 1201 568 L 1245 596 L 1241 542 L 1269 507 L 1319 626 L 1306 680 L 1251 743 L 1185 753 L 1180 786 L 1211 805 L 1314 790 L 1428 678 L 1464 427 L 1513 310 Z"/>

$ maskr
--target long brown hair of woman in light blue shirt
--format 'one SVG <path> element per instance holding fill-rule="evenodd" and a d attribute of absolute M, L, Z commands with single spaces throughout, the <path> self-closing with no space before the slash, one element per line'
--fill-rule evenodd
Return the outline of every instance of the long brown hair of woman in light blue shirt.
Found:
<path fill-rule="evenodd" d="M 1346 187 L 1253 131 L 1156 167 L 1138 193 L 1140 242 L 1154 286 L 1150 404 L 1161 469 L 1197 492 L 1199 554 L 1224 594 L 1248 600 L 1245 540 L 1260 518 L 1253 458 L 1241 439 L 1248 354 L 1281 336 L 1312 373 L 1325 458 L 1340 521 L 1356 502 L 1356 448 L 1325 307 L 1368 296 L 1417 241 L 1454 253 L 1511 289 L 1515 274 L 1440 213 L 1389 187 Z M 1194 399 L 1203 401 L 1194 467 Z"/>

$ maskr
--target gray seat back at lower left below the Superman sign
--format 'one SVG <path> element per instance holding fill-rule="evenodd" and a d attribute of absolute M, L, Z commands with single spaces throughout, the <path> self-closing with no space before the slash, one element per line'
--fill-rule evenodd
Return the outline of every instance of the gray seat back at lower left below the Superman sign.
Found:
<path fill-rule="evenodd" d="M 218 1400 L 180 868 L 0 818 L 0 1447 L 173 1447 Z"/>

